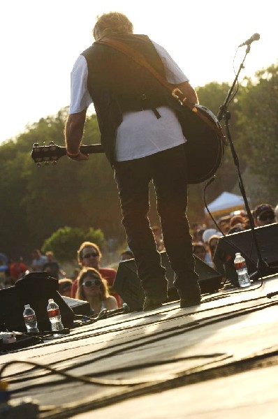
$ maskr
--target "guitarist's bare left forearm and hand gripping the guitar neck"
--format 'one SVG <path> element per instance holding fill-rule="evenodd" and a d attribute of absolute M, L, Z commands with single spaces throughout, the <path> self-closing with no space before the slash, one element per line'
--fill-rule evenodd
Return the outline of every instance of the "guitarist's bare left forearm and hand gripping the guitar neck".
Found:
<path fill-rule="evenodd" d="M 87 154 L 80 152 L 80 143 L 82 141 L 87 108 L 75 114 L 68 115 L 65 127 L 66 151 L 68 157 L 76 161 L 88 160 Z M 79 154 L 78 154 L 79 153 Z M 72 154 L 72 155 L 71 155 Z"/>

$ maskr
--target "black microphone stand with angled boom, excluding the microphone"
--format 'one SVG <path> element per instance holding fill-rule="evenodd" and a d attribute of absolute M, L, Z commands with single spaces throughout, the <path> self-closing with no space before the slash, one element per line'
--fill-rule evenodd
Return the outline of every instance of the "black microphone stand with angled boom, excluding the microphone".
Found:
<path fill-rule="evenodd" d="M 235 163 L 235 169 L 237 171 L 238 184 L 240 186 L 240 191 L 242 193 L 242 198 L 244 200 L 244 205 L 245 205 L 245 208 L 246 208 L 246 211 L 247 211 L 247 214 L 248 214 L 248 217 L 249 217 L 249 221 L 250 221 L 251 233 L 252 233 L 252 237 L 253 237 L 253 240 L 254 240 L 254 244 L 255 244 L 256 251 L 257 251 L 257 256 L 258 256 L 257 271 L 254 272 L 253 274 L 251 274 L 250 278 L 252 280 L 256 281 L 256 279 L 267 277 L 270 274 L 277 273 L 278 272 L 278 267 L 270 267 L 268 265 L 268 263 L 266 262 L 266 260 L 264 260 L 263 257 L 261 256 L 261 250 L 260 250 L 260 247 L 258 245 L 258 239 L 257 239 L 256 232 L 255 232 L 254 218 L 251 214 L 251 210 L 250 210 L 249 203 L 248 203 L 248 200 L 247 200 L 247 196 L 246 196 L 246 193 L 245 193 L 244 184 L 243 184 L 242 176 L 241 176 L 241 173 L 240 173 L 240 164 L 239 164 L 239 161 L 238 161 L 237 154 L 235 152 L 235 147 L 234 147 L 233 141 L 231 139 L 231 133 L 230 133 L 230 130 L 229 130 L 229 125 L 228 125 L 228 121 L 229 121 L 229 119 L 231 119 L 231 112 L 228 111 L 228 103 L 230 101 L 231 94 L 233 93 L 235 83 L 237 82 L 238 75 L 240 74 L 240 71 L 242 70 L 242 68 L 244 68 L 243 64 L 244 64 L 244 61 L 245 61 L 245 59 L 247 57 L 247 54 L 249 52 L 250 52 L 250 45 L 247 45 L 247 49 L 246 49 L 246 52 L 245 52 L 245 55 L 244 55 L 244 59 L 242 60 L 242 63 L 240 64 L 240 68 L 238 69 L 237 74 L 235 75 L 235 80 L 233 81 L 231 89 L 229 89 L 229 91 L 228 91 L 228 95 L 226 96 L 226 99 L 225 99 L 223 105 L 221 105 L 220 108 L 219 108 L 219 112 L 217 114 L 217 119 L 220 122 L 221 119 L 223 118 L 224 122 L 225 122 L 226 138 L 228 138 L 228 143 L 229 143 L 230 148 L 231 148 L 233 161 Z"/>

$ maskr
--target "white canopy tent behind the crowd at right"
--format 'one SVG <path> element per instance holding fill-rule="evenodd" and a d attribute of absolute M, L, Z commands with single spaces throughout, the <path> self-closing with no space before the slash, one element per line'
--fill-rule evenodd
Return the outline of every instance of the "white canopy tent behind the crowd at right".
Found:
<path fill-rule="evenodd" d="M 230 214 L 233 211 L 243 210 L 245 208 L 242 196 L 230 192 L 222 192 L 221 195 L 207 205 L 207 207 L 214 216 Z M 206 208 L 205 214 L 207 215 Z"/>

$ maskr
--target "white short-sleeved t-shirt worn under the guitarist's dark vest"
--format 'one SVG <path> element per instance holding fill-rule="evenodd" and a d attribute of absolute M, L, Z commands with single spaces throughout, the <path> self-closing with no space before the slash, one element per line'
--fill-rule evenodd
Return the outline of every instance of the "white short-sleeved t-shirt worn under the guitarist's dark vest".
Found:
<path fill-rule="evenodd" d="M 168 82 L 180 84 L 189 81 L 168 52 L 154 43 L 166 73 Z M 81 112 L 92 103 L 87 89 L 87 61 L 80 55 L 71 72 L 71 105 L 69 114 Z M 175 112 L 161 106 L 157 108 L 161 118 L 152 110 L 124 112 L 123 121 L 117 128 L 115 143 L 116 161 L 140 159 L 183 144 L 186 140 Z"/>

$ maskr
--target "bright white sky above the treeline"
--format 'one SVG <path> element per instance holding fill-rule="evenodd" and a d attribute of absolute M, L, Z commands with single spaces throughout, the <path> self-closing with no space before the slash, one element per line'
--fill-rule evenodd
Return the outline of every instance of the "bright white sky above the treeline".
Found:
<path fill-rule="evenodd" d="M 273 0 L 10 0 L 0 10 L 0 142 L 69 104 L 71 68 L 105 12 L 126 14 L 135 33 L 166 47 L 194 87 L 232 83 L 237 45 L 254 33 L 261 39 L 251 44 L 239 81 L 278 59 Z M 245 51 L 237 51 L 236 72 Z"/>

